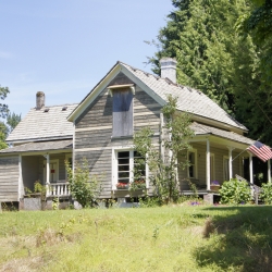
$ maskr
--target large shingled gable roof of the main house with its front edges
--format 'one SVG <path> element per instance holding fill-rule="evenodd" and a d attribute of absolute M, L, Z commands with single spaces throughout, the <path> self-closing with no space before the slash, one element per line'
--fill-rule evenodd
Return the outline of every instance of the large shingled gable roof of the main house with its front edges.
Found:
<path fill-rule="evenodd" d="M 123 62 L 118 62 L 109 73 L 95 86 L 95 88 L 83 99 L 78 107 L 71 113 L 69 120 L 72 121 L 87 108 L 92 96 L 99 94 L 99 89 L 107 87 L 110 77 L 116 76 L 119 72 L 124 73 L 128 78 L 140 85 L 144 90 L 152 96 L 162 106 L 166 103 L 168 96 L 177 97 L 177 110 L 194 114 L 195 118 L 219 122 L 224 126 L 232 126 L 239 131 L 247 132 L 247 128 L 227 114 L 220 106 L 208 98 L 199 90 L 172 83 L 169 78 L 146 73 L 132 67 Z"/>

